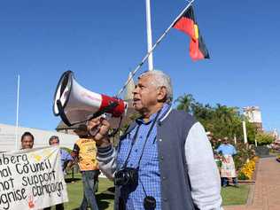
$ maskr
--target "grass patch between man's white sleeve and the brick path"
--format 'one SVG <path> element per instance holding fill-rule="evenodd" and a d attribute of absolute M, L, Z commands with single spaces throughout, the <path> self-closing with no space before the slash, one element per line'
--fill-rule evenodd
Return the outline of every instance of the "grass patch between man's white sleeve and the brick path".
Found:
<path fill-rule="evenodd" d="M 239 188 L 231 186 L 222 188 L 222 206 L 245 204 L 249 190 L 249 186 L 245 184 L 239 185 Z"/>

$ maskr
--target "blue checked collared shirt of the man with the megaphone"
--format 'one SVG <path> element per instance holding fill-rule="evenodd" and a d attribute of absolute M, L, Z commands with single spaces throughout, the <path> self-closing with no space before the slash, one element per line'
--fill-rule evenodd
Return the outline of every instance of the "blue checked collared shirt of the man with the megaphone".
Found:
<path fill-rule="evenodd" d="M 163 105 L 160 113 L 159 119 L 167 110 L 170 108 L 169 105 Z M 125 139 L 122 139 L 119 144 L 119 152 L 117 157 L 117 168 L 123 167 L 126 159 L 128 158 L 127 167 L 139 167 L 139 178 L 138 185 L 136 189 L 128 189 L 128 187 L 121 188 L 121 198 L 125 199 L 127 209 L 144 209 L 143 202 L 145 198 L 145 193 L 147 196 L 152 196 L 156 199 L 156 208 L 160 207 L 160 174 L 159 174 L 159 158 L 158 158 L 158 144 L 156 142 L 157 137 L 157 123 L 152 127 L 152 122 L 155 120 L 157 113 L 152 114 L 148 122 L 144 122 L 141 119 L 136 120 L 137 126 L 134 128 Z M 136 134 L 136 129 L 138 129 L 138 134 L 136 137 L 136 142 L 132 146 L 133 137 Z M 147 139 L 144 146 L 146 136 L 151 129 L 151 134 Z M 128 152 L 132 146 L 129 157 Z M 143 156 L 140 160 L 141 153 Z"/>

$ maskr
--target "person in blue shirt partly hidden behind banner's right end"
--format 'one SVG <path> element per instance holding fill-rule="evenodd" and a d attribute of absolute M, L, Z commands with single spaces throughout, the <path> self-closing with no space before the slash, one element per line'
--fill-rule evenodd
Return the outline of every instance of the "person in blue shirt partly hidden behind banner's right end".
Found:
<path fill-rule="evenodd" d="M 51 138 L 49 139 L 49 144 L 51 146 L 59 145 L 58 136 L 51 136 Z M 72 167 L 74 161 L 73 161 L 72 156 L 68 152 L 66 152 L 65 150 L 60 149 L 59 152 L 60 152 L 61 168 L 62 168 L 63 172 L 65 173 L 66 168 Z M 44 210 L 51 210 L 51 206 L 44 208 Z M 56 210 L 64 210 L 64 205 L 63 204 L 57 204 L 56 205 Z"/>

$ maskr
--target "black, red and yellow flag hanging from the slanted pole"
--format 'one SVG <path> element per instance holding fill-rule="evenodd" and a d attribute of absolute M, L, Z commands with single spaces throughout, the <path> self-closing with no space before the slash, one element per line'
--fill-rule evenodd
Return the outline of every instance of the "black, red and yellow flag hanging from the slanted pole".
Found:
<path fill-rule="evenodd" d="M 194 17 L 192 6 L 175 22 L 174 28 L 190 35 L 190 56 L 193 60 L 210 58 L 209 52 L 206 49 L 206 44 L 199 33 L 198 23 Z"/>

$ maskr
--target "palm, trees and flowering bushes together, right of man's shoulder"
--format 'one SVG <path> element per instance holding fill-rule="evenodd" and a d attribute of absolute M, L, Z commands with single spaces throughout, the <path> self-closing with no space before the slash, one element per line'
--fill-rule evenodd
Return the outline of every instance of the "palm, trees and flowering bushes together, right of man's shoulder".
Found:
<path fill-rule="evenodd" d="M 216 149 L 222 144 L 222 138 L 229 137 L 229 144 L 234 144 L 234 137 L 237 139 L 237 155 L 234 156 L 236 169 L 239 170 L 245 164 L 247 159 L 254 156 L 253 149 L 244 144 L 242 122 L 246 122 L 247 139 L 249 143 L 254 144 L 256 128 L 253 123 L 247 121 L 245 116 L 240 112 L 238 107 L 226 105 L 203 105 L 198 103 L 191 94 L 184 94 L 175 100 L 177 109 L 191 113 L 195 118 L 210 131 L 211 144 Z"/>

